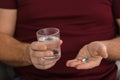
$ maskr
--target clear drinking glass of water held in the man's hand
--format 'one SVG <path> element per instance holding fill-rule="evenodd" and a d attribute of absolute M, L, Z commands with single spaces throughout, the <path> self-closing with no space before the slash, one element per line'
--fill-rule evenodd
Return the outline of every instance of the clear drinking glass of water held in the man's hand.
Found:
<path fill-rule="evenodd" d="M 58 60 L 61 57 L 60 30 L 58 28 L 43 28 L 36 32 L 37 40 L 47 45 L 53 51 L 53 56 L 45 56 L 44 60 Z"/>

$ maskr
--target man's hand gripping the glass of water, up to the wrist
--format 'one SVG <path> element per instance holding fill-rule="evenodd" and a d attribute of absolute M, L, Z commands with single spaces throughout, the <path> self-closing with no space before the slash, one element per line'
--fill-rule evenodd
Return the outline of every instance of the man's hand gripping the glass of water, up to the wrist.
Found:
<path fill-rule="evenodd" d="M 30 45 L 30 58 L 32 64 L 37 69 L 49 69 L 55 65 L 58 60 L 44 60 L 42 57 L 52 56 L 53 52 L 47 50 L 47 46 L 42 42 L 32 42 Z"/>

